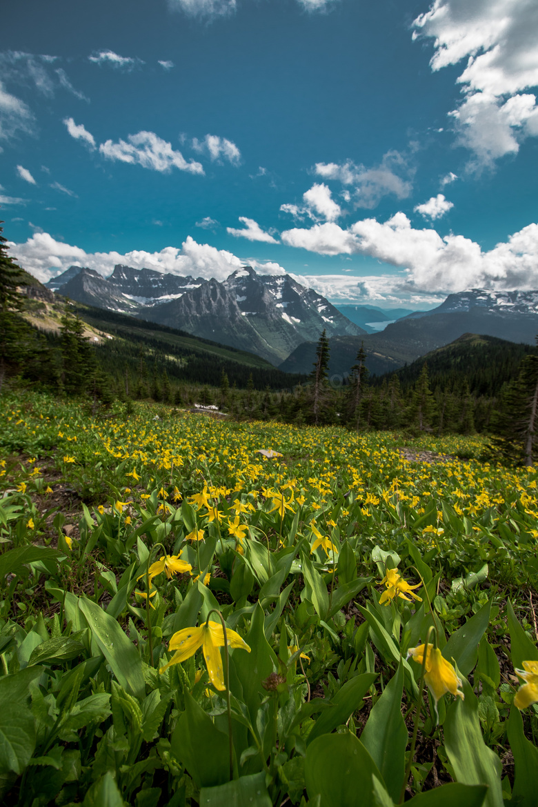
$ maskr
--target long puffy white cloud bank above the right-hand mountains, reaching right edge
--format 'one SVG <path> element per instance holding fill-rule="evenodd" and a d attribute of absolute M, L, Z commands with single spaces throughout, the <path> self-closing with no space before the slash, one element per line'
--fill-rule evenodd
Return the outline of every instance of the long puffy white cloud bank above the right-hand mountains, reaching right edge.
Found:
<path fill-rule="evenodd" d="M 407 273 L 407 284 L 423 291 L 462 291 L 469 286 L 494 289 L 538 288 L 538 224 L 529 224 L 489 252 L 434 229 L 415 229 L 402 212 L 381 223 L 357 221 L 348 229 L 316 224 L 282 232 L 286 245 L 322 255 L 369 255 Z"/>

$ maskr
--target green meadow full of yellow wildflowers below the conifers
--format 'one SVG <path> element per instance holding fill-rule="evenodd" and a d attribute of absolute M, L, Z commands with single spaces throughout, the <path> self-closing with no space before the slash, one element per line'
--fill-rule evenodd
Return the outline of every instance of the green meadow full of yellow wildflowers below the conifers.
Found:
<path fill-rule="evenodd" d="M 0 416 L 2 803 L 536 805 L 534 468 L 143 403 Z"/>

